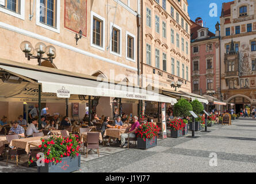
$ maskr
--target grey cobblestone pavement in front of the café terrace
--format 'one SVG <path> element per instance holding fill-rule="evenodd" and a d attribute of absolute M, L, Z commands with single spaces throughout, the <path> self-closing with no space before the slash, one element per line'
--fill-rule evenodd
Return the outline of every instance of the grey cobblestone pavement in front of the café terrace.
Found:
<path fill-rule="evenodd" d="M 81 157 L 82 173 L 120 172 L 255 172 L 256 120 L 235 120 L 232 125 L 208 127 L 196 132 L 197 139 L 179 137 L 158 140 L 148 150 L 101 147 L 98 155 Z M 191 132 L 189 132 L 191 135 Z M 209 166 L 210 154 L 217 154 L 217 166 Z M 26 160 L 26 158 L 24 158 Z M 0 161 L 0 172 L 36 172 L 36 167 L 15 166 Z M 14 161 L 13 161 L 14 163 Z"/>

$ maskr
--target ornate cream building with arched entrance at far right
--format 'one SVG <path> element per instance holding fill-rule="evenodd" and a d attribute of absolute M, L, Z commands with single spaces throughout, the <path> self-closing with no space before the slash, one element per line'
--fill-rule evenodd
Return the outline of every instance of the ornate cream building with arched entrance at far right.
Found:
<path fill-rule="evenodd" d="M 240 109 L 256 106 L 256 1 L 223 3 L 220 17 L 221 94 Z"/>

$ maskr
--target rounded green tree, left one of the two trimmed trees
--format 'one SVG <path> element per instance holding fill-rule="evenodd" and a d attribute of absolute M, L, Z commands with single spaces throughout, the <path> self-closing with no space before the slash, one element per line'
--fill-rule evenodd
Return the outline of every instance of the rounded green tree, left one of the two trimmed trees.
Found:
<path fill-rule="evenodd" d="M 187 117 L 190 115 L 189 111 L 193 110 L 191 104 L 184 99 L 181 98 L 177 102 L 177 104 L 174 105 L 173 114 L 176 117 Z"/>

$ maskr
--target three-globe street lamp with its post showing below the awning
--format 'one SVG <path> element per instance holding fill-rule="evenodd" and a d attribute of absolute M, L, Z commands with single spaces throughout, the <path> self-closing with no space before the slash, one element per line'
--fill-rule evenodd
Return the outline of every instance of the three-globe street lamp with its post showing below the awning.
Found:
<path fill-rule="evenodd" d="M 25 57 L 30 59 L 37 59 L 38 65 L 41 66 L 41 60 L 47 60 L 48 62 L 53 63 L 53 60 L 56 57 L 56 49 L 49 45 L 48 47 L 44 43 L 37 43 L 35 49 L 29 41 L 22 41 L 20 44 L 21 51 L 25 53 Z M 48 57 L 43 57 L 44 53 Z M 33 55 L 34 54 L 34 55 Z M 38 87 L 38 106 L 39 106 L 39 129 L 41 129 L 41 85 Z"/>

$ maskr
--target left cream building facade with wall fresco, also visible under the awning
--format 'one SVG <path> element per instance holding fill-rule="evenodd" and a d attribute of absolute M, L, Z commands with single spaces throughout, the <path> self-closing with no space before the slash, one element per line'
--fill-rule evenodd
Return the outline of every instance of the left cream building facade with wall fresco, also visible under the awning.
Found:
<path fill-rule="evenodd" d="M 54 67 L 58 69 L 137 85 L 139 7 L 139 0 L 0 1 L 0 55 L 3 59 L 36 65 L 37 60 L 25 58 L 20 44 L 26 40 L 35 47 L 43 42 L 56 48 Z M 76 44 L 74 38 L 79 30 L 83 36 Z M 0 116 L 16 120 L 24 113 L 21 101 L 0 102 Z M 124 112 L 137 113 L 136 102 L 123 102 Z M 79 103 L 79 118 L 82 118 L 85 101 Z M 50 114 L 65 114 L 64 104 L 45 102 L 43 106 L 49 106 Z M 71 116 L 71 104 L 69 107 Z M 97 113 L 113 116 L 113 99 L 100 98 Z"/>

